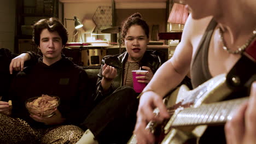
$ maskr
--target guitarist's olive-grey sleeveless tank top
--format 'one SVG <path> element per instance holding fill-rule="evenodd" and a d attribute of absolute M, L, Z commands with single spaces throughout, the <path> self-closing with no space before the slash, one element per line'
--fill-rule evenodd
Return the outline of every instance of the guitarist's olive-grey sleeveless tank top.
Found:
<path fill-rule="evenodd" d="M 206 82 L 212 78 L 208 67 L 208 49 L 213 31 L 216 26 L 217 22 L 212 19 L 202 36 L 199 47 L 197 48 L 195 56 L 192 60 L 190 73 L 193 88 L 196 88 L 203 82 Z"/>

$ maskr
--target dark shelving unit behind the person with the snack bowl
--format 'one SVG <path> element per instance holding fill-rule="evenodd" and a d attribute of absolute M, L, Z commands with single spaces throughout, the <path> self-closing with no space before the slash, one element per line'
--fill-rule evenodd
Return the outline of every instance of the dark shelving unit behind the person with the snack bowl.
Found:
<path fill-rule="evenodd" d="M 40 19 L 58 17 L 58 8 L 59 0 L 16 0 L 15 53 L 37 50 L 31 40 L 31 26 Z"/>

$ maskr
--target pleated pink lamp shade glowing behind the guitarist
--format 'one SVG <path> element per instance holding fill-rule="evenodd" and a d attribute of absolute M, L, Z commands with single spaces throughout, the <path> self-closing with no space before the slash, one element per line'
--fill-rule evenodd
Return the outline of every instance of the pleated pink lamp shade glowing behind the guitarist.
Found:
<path fill-rule="evenodd" d="M 168 18 L 168 22 L 184 25 L 187 19 L 188 10 L 185 8 L 185 5 L 174 3 Z"/>

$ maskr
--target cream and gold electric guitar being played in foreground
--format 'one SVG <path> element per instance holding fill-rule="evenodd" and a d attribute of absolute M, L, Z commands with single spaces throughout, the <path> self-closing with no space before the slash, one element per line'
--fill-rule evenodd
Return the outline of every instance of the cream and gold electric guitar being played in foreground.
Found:
<path fill-rule="evenodd" d="M 191 91 L 182 85 L 168 97 L 166 106 L 171 118 L 163 123 L 149 122 L 146 128 L 155 135 L 155 143 L 184 143 L 191 137 L 200 137 L 206 125 L 225 123 L 231 118 L 232 110 L 246 100 L 242 98 L 215 103 L 231 92 L 225 74 L 215 76 Z M 154 112 L 158 113 L 159 110 L 155 109 Z M 128 144 L 136 143 L 136 136 L 132 135 Z"/>

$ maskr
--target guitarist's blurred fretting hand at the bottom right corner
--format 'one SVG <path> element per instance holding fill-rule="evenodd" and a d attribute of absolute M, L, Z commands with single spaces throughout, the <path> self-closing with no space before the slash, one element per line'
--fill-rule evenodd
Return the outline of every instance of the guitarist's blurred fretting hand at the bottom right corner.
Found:
<path fill-rule="evenodd" d="M 243 103 L 225 124 L 225 136 L 228 144 L 256 142 L 256 81 L 251 87 L 249 100 Z"/>

